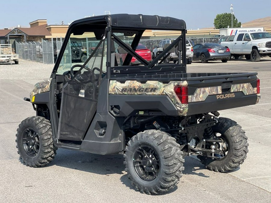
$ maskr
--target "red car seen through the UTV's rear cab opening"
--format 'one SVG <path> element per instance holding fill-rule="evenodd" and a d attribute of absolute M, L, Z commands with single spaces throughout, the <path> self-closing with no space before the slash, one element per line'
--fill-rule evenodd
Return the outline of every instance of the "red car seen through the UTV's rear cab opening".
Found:
<path fill-rule="evenodd" d="M 148 48 L 146 48 L 142 44 L 137 45 L 136 53 L 139 54 L 139 56 L 141 56 L 143 59 L 145 59 L 148 62 L 150 62 L 152 60 L 151 59 L 151 50 L 149 50 Z M 127 54 L 119 54 L 116 50 L 116 58 L 117 58 L 117 62 L 120 66 L 122 66 L 123 61 L 125 60 L 126 56 L 127 56 Z M 132 64 L 140 64 L 140 62 L 135 57 L 132 57 L 130 65 L 132 65 Z"/>

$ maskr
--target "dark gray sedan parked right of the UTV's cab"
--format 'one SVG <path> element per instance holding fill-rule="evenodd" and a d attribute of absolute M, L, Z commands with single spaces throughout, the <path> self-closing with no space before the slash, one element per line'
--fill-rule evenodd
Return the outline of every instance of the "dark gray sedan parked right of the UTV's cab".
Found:
<path fill-rule="evenodd" d="M 209 60 L 221 60 L 226 63 L 231 56 L 229 48 L 217 43 L 200 43 L 194 45 L 193 49 L 193 60 L 200 60 L 202 63 L 207 63 Z"/>

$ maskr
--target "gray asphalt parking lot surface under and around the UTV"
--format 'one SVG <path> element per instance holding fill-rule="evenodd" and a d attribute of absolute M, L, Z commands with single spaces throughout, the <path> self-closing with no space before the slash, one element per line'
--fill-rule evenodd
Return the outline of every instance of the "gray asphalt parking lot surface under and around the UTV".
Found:
<path fill-rule="evenodd" d="M 260 62 L 193 62 L 187 72 L 258 72 L 261 99 L 257 105 L 220 111 L 246 131 L 248 157 L 230 173 L 208 171 L 186 157 L 184 175 L 164 195 L 136 191 L 127 179 L 122 155 L 95 155 L 58 149 L 44 168 L 19 160 L 15 134 L 20 121 L 35 115 L 29 97 L 36 82 L 49 78 L 53 65 L 20 60 L 0 65 L 0 202 L 271 202 L 271 58 Z"/>

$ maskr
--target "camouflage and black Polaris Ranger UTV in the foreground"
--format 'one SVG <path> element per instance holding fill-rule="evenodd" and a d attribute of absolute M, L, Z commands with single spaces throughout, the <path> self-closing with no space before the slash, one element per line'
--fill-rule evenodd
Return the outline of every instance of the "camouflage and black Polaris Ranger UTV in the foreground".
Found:
<path fill-rule="evenodd" d="M 145 30 L 180 35 L 149 63 L 136 53 Z M 197 155 L 212 171 L 238 168 L 246 158 L 248 138 L 240 125 L 219 118 L 217 111 L 258 103 L 259 78 L 257 73 L 186 73 L 185 33 L 183 20 L 157 15 L 74 21 L 50 79 L 37 83 L 24 99 L 36 111 L 17 129 L 25 165 L 47 165 L 57 148 L 123 153 L 128 178 L 147 194 L 176 186 L 186 155 Z M 86 37 L 98 41 L 86 62 L 65 63 L 69 38 Z M 165 63 L 176 50 L 178 62 Z M 127 54 L 122 65 L 116 52 Z M 132 57 L 141 64 L 130 65 Z"/>

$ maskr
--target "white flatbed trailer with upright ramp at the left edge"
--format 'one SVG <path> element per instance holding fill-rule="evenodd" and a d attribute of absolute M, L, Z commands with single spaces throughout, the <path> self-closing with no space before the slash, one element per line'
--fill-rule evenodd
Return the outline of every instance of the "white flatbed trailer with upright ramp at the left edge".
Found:
<path fill-rule="evenodd" d="M 0 45 L 0 63 L 19 64 L 19 55 L 12 53 L 11 44 Z"/>

